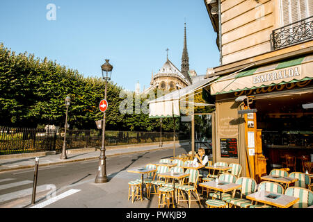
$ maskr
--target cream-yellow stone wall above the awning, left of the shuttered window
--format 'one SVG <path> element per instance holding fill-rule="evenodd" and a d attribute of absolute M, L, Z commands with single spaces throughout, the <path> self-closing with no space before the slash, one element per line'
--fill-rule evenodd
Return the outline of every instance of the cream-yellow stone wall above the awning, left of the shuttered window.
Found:
<path fill-rule="evenodd" d="M 278 0 L 222 0 L 223 65 L 271 51 L 280 26 Z"/>

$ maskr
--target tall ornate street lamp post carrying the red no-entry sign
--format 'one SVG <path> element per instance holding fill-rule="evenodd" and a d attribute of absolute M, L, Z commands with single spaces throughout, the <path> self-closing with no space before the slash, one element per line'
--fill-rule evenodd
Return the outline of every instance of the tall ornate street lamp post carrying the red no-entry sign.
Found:
<path fill-rule="evenodd" d="M 105 80 L 105 83 L 107 85 L 108 80 L 111 79 L 113 66 L 109 63 L 109 60 L 106 60 L 104 65 L 101 66 L 101 69 L 102 69 L 102 78 Z M 104 91 L 104 99 L 106 100 L 106 87 Z M 95 178 L 95 183 L 108 182 L 108 178 L 106 177 L 106 145 L 104 137 L 105 131 L 106 131 L 106 112 L 103 113 L 102 147 L 100 148 L 99 165 L 97 177 Z"/>

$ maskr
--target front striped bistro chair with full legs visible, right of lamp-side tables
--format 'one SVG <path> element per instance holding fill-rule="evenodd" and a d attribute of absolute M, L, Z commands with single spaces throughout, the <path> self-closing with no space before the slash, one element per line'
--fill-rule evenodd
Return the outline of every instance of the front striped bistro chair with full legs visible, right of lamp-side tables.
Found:
<path fill-rule="evenodd" d="M 178 195 L 178 203 L 179 201 L 188 201 L 188 207 L 191 207 L 191 201 L 198 201 L 200 204 L 200 197 L 198 195 L 198 191 L 197 191 L 197 183 L 198 183 L 198 179 L 199 179 L 199 171 L 198 169 L 190 169 L 189 170 L 189 177 L 188 177 L 188 184 L 187 185 L 180 185 L 177 187 Z M 188 195 L 188 200 L 185 200 L 184 198 L 184 192 L 186 192 L 186 194 Z M 195 193 L 195 195 L 197 196 L 197 198 L 195 199 L 191 199 L 191 194 L 193 194 L 193 192 Z M 179 195 L 182 194 L 182 195 Z M 183 200 L 181 200 L 180 198 L 183 198 Z"/>

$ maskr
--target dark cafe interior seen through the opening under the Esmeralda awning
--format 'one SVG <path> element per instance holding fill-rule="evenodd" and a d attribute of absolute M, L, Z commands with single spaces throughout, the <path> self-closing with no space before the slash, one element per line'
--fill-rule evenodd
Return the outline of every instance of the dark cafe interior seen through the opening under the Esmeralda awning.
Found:
<path fill-rule="evenodd" d="M 268 173 L 284 167 L 291 168 L 290 172 L 305 171 L 303 161 L 313 161 L 313 109 L 303 108 L 307 103 L 313 103 L 313 93 L 255 99 Z M 294 167 L 287 166 L 285 155 L 294 157 Z"/>

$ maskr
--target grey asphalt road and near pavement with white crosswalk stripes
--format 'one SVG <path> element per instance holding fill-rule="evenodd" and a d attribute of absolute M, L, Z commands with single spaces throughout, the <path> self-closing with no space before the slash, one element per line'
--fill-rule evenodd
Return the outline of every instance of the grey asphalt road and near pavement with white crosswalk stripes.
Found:
<path fill-rule="evenodd" d="M 176 153 L 186 153 L 186 148 L 177 148 Z M 172 149 L 169 148 L 109 157 L 106 169 L 110 181 L 104 184 L 94 182 L 97 160 L 40 167 L 35 205 L 30 204 L 33 169 L 2 172 L 0 207 L 157 207 L 157 196 L 152 196 L 152 201 L 136 201 L 134 204 L 127 200 L 127 182 L 140 178 L 138 174 L 128 173 L 127 169 L 157 163 L 171 155 Z M 193 207 L 203 206 L 194 203 Z"/>

